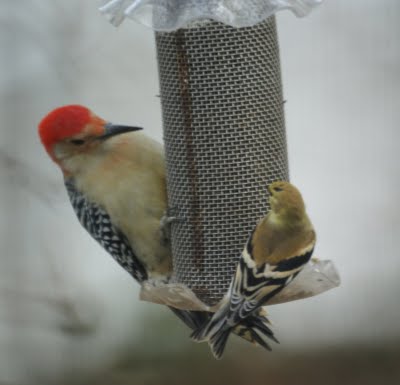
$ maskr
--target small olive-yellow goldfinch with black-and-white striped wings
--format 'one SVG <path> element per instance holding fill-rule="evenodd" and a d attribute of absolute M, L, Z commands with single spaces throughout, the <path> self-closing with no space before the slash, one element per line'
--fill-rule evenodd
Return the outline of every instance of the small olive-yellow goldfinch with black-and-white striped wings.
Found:
<path fill-rule="evenodd" d="M 221 358 L 230 332 L 288 285 L 310 260 L 315 231 L 296 187 L 277 181 L 268 186 L 271 211 L 252 231 L 223 305 L 192 334 L 207 340 Z"/>

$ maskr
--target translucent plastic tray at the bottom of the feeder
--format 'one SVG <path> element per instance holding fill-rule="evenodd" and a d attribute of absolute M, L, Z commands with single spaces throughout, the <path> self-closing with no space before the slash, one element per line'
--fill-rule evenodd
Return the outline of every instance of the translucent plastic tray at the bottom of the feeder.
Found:
<path fill-rule="evenodd" d="M 297 277 L 282 291 L 276 294 L 266 305 L 276 305 L 313 297 L 340 285 L 340 277 L 334 263 L 330 260 L 312 258 Z M 140 299 L 165 304 L 179 309 L 216 311 L 223 300 L 210 307 L 200 301 L 185 285 L 178 283 L 142 284 Z"/>

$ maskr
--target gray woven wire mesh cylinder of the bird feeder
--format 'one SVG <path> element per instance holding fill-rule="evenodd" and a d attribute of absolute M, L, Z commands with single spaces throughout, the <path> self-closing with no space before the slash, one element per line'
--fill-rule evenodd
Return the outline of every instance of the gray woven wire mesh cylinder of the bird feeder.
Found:
<path fill-rule="evenodd" d="M 274 17 L 156 33 L 174 279 L 207 304 L 227 291 L 266 186 L 288 178 Z"/>

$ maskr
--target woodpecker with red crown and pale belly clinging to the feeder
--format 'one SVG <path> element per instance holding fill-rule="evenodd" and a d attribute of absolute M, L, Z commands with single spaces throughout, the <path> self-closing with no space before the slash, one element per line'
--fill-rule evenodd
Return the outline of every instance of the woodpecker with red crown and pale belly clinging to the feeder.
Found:
<path fill-rule="evenodd" d="M 39 124 L 43 146 L 63 172 L 82 226 L 139 283 L 168 282 L 172 255 L 161 226 L 167 209 L 164 154 L 138 130 L 111 124 L 79 105 L 59 107 Z M 193 330 L 210 317 L 171 310 Z M 267 324 L 257 314 L 234 332 L 267 347 L 263 338 L 273 336 Z"/>

